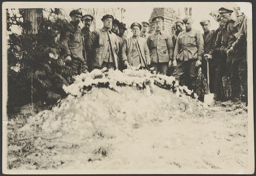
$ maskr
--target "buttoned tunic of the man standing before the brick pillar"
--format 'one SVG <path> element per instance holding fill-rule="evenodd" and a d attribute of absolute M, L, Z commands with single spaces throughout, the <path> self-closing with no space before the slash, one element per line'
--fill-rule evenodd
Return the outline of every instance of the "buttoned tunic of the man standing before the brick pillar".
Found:
<path fill-rule="evenodd" d="M 167 32 L 153 32 L 148 35 L 147 45 L 153 63 L 169 62 L 172 59 L 172 38 Z"/>

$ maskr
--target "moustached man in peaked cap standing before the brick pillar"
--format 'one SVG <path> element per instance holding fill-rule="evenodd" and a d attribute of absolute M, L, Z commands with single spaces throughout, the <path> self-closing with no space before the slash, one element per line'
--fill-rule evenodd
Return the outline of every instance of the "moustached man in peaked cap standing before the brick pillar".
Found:
<path fill-rule="evenodd" d="M 172 60 L 172 39 L 171 35 L 163 31 L 163 16 L 152 18 L 155 25 L 155 32 L 148 35 L 147 44 L 150 52 L 151 66 L 156 72 L 167 74 L 169 60 Z"/>

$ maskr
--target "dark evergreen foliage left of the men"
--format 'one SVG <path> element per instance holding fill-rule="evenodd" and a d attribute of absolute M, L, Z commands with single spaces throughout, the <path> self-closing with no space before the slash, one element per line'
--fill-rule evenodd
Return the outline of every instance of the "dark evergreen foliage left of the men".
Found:
<path fill-rule="evenodd" d="M 8 11 L 6 13 L 8 31 L 11 31 L 11 25 L 22 27 L 20 18 L 10 16 Z M 51 13 L 61 14 L 59 9 L 54 9 Z M 22 16 L 22 10 L 20 15 Z M 9 35 L 8 113 L 16 106 L 31 102 L 31 94 L 33 101 L 47 103 L 54 103 L 65 96 L 62 86 L 71 82 L 71 76 L 70 67 L 64 63 L 61 48 L 69 29 L 67 20 L 57 18 L 52 22 L 48 17 L 40 22 L 37 34 L 28 34 L 26 38 L 22 34 Z"/>

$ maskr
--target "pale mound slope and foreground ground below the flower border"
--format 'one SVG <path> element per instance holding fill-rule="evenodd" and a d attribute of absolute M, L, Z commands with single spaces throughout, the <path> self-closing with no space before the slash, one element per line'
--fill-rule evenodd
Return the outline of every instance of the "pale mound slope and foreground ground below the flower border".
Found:
<path fill-rule="evenodd" d="M 23 136 L 33 133 L 34 145 L 23 164 L 13 169 L 248 166 L 245 110 L 209 108 L 156 85 L 152 94 L 137 87 L 119 88 L 93 87 L 81 97 L 68 95 L 52 110 L 28 119 L 18 131 Z M 9 165 L 19 161 L 12 150 L 18 149 L 9 145 Z"/>

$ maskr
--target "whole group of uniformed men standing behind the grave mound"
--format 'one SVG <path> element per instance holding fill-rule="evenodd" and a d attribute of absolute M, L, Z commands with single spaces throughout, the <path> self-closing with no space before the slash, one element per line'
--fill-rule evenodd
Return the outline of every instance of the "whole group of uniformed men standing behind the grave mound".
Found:
<path fill-rule="evenodd" d="M 226 73 L 231 78 L 232 97 L 222 105 L 239 107 L 242 87 L 247 95 L 247 24 L 244 15 L 233 18 L 232 13 L 223 7 L 218 13 L 212 12 L 219 28 L 210 30 L 210 20 L 202 20 L 203 34 L 192 28 L 191 16 L 176 17 L 171 33 L 163 31 L 164 17 L 156 16 L 152 18 L 154 32 L 148 34 L 148 22 L 134 22 L 132 37 L 127 38 L 126 25 L 112 15 L 104 15 L 103 28 L 90 32 L 93 17 L 73 10 L 69 14 L 73 27 L 64 47 L 66 61 L 72 63 L 73 75 L 103 67 L 154 67 L 157 73 L 173 75 L 193 92 L 198 68 L 202 66 L 206 76 L 208 62 L 213 105 L 220 105 L 222 76 Z"/>

